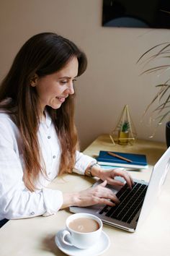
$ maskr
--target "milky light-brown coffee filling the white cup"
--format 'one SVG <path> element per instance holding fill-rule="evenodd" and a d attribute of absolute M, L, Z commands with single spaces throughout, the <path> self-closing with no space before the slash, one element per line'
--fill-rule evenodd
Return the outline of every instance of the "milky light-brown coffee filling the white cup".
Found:
<path fill-rule="evenodd" d="M 76 218 L 69 223 L 69 228 L 81 233 L 89 233 L 99 229 L 99 223 L 92 218 Z"/>

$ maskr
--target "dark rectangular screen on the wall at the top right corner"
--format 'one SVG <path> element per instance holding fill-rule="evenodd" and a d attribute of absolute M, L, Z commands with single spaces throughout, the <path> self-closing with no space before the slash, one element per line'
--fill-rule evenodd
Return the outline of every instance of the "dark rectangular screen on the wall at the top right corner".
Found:
<path fill-rule="evenodd" d="M 103 0 L 102 25 L 170 28 L 170 0 Z"/>

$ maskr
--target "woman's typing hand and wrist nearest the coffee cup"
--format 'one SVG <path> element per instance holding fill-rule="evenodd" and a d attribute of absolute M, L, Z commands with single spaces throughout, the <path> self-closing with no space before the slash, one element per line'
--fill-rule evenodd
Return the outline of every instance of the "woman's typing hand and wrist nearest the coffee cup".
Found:
<path fill-rule="evenodd" d="M 80 192 L 64 193 L 61 209 L 69 206 L 86 207 L 96 204 L 114 206 L 116 203 L 119 203 L 119 200 L 106 185 L 107 181 L 104 181 L 96 187 L 90 187 Z"/>

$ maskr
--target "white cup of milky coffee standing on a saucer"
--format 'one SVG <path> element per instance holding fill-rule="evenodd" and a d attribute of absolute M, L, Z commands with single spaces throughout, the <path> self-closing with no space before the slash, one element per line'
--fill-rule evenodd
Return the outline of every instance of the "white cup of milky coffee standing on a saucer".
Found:
<path fill-rule="evenodd" d="M 102 221 L 89 213 L 74 213 L 66 219 L 66 229 L 61 232 L 61 241 L 79 249 L 87 249 L 99 241 Z"/>

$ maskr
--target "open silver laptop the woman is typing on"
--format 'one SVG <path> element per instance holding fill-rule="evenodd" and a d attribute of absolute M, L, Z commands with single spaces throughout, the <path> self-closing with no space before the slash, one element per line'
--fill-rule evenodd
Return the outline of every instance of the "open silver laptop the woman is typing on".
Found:
<path fill-rule="evenodd" d="M 107 185 L 117 195 L 120 204 L 111 207 L 108 205 L 93 205 L 89 207 L 71 206 L 72 213 L 91 213 L 102 219 L 103 223 L 115 226 L 125 231 L 134 232 L 146 219 L 156 199 L 161 192 L 162 184 L 170 168 L 170 147 L 158 160 L 151 174 L 149 182 L 134 179 L 133 189 L 125 184 L 121 189 Z M 117 177 L 119 179 L 119 177 Z M 122 178 L 121 178 L 122 179 Z M 93 186 L 102 181 L 97 181 Z"/>

